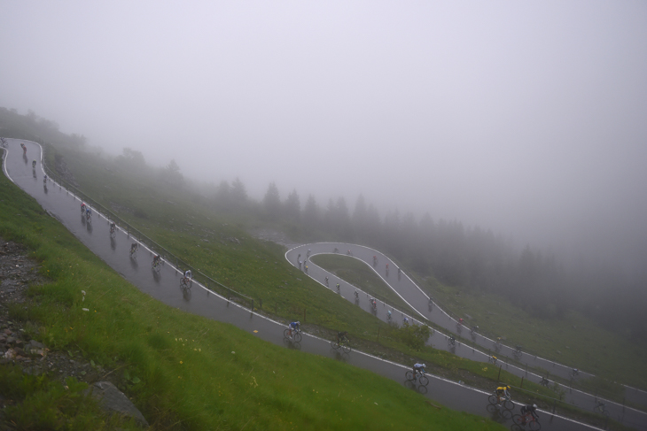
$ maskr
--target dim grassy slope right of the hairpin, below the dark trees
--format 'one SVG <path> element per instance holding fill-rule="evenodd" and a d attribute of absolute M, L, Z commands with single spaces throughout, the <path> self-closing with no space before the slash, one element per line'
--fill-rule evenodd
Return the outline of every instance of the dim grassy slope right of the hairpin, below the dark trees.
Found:
<path fill-rule="evenodd" d="M 428 279 L 421 286 L 449 310 L 460 316 L 469 314 L 470 325 L 481 332 L 502 336 L 509 345 L 537 352 L 567 366 L 595 373 L 601 379 L 580 379 L 581 387 L 604 393 L 622 402 L 624 389 L 612 381 L 647 388 L 647 347 L 596 325 L 579 312 L 568 312 L 564 319 L 538 319 L 521 311 L 505 297 L 472 294 Z M 610 381 L 611 380 L 611 381 Z"/>

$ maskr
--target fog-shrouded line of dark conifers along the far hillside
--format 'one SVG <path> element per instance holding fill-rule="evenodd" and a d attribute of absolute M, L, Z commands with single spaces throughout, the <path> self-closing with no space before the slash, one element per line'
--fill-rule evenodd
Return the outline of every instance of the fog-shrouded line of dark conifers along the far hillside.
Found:
<path fill-rule="evenodd" d="M 56 123 L 34 112 L 19 115 L 0 108 L 0 135 L 47 141 L 76 149 L 85 138 L 64 135 Z M 340 241 L 364 244 L 384 251 L 405 271 L 420 277 L 477 292 L 502 294 L 526 312 L 543 319 L 560 319 L 578 310 L 600 323 L 647 342 L 647 272 L 629 278 L 612 265 L 565 266 L 554 256 L 529 245 L 518 250 L 502 235 L 480 227 L 464 227 L 457 220 L 434 220 L 429 214 L 417 219 L 412 213 L 389 212 L 380 216 L 376 207 L 359 196 L 351 210 L 344 197 L 322 207 L 312 195 L 305 204 L 296 190 L 281 200 L 270 183 L 261 202 L 247 196 L 245 184 L 236 179 L 218 185 L 186 181 L 175 161 L 161 168 L 146 166 L 144 156 L 124 149 L 114 163 L 136 167 L 139 174 L 154 173 L 172 188 L 196 196 L 196 203 L 240 219 L 257 219 L 281 227 L 300 241 Z"/>

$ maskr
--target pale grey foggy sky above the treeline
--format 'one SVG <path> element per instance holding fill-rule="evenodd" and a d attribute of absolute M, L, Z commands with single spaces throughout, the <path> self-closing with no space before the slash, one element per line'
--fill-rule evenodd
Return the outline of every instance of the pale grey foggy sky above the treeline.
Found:
<path fill-rule="evenodd" d="M 113 154 L 647 263 L 642 1 L 4 1 L 0 58 Z"/>

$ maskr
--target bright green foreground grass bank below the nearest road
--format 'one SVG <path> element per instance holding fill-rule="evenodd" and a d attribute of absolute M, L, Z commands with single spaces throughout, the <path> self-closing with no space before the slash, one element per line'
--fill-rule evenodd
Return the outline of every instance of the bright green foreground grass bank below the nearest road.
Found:
<path fill-rule="evenodd" d="M 128 371 L 130 381 L 139 380 L 129 396 L 156 427 L 500 429 L 487 419 L 430 408 L 422 396 L 373 373 L 160 304 L 4 176 L 0 227 L 5 239 L 27 245 L 51 279 L 30 288 L 35 305 L 13 308 L 12 319 L 33 322 L 29 335 L 52 349 L 82 350 L 102 366 Z"/>

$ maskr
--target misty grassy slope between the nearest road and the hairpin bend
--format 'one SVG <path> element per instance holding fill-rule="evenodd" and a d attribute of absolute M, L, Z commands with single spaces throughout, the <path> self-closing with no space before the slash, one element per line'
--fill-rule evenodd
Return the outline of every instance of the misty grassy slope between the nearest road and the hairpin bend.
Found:
<path fill-rule="evenodd" d="M 115 206 L 120 210 L 121 217 L 216 280 L 253 296 L 257 304 L 259 298 L 263 299 L 264 310 L 272 313 L 276 310 L 279 317 L 295 319 L 302 317 L 303 309 L 307 309 L 308 323 L 334 330 L 344 328 L 351 333 L 355 342 L 358 338 L 369 341 L 360 344 L 360 347 L 376 356 L 402 363 L 418 358 L 428 365 L 433 364 L 433 373 L 463 380 L 483 389 L 495 386 L 499 373 L 492 366 L 429 347 L 410 349 L 394 336 L 392 328 L 386 323 L 369 313 L 357 312 L 355 305 L 340 299 L 328 289 L 322 289 L 318 283 L 285 262 L 282 247 L 247 236 L 243 228 L 250 226 L 250 220 L 244 223 L 241 219 L 222 219 L 222 214 L 207 207 L 203 198 L 196 199 L 180 192 L 171 194 L 166 186 L 151 177 L 130 173 L 108 160 L 97 159 L 86 153 L 66 153 L 66 160 L 82 182 L 83 189 L 91 196 L 97 196 L 104 204 L 121 205 L 121 208 Z M 135 213 L 140 217 L 136 217 Z M 227 239 L 230 236 L 241 239 L 241 243 L 230 242 Z M 340 270 L 353 277 L 352 269 L 357 266 L 357 262 L 354 263 Z M 357 283 L 365 287 L 362 277 L 370 274 L 370 270 L 366 273 L 368 268 L 359 265 L 362 266 L 362 273 L 357 276 Z M 377 277 L 370 284 L 371 289 L 387 291 L 385 286 L 380 287 L 383 283 Z M 376 343 L 378 330 L 381 335 Z M 500 377 L 513 386 L 521 383 L 520 378 L 505 371 Z M 544 408 L 552 402 L 538 396 L 557 396 L 555 392 L 534 382 L 526 381 L 524 388 L 534 395 L 519 396 L 526 402 L 537 402 Z M 571 407 L 565 405 L 564 410 L 571 410 Z M 573 414 L 584 419 L 579 412 Z M 596 419 L 592 420 L 595 422 Z"/>

